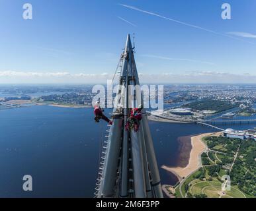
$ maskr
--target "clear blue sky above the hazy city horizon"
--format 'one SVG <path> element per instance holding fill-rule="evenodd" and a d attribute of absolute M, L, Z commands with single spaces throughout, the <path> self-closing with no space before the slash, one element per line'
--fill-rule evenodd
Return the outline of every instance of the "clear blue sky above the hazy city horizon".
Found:
<path fill-rule="evenodd" d="M 128 33 L 145 82 L 256 82 L 255 9 L 254 0 L 1 0 L 0 82 L 103 82 Z"/>

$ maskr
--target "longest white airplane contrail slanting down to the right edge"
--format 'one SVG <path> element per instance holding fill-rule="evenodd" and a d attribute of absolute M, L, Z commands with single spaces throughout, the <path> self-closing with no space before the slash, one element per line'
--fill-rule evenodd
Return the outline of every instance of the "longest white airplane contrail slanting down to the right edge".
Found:
<path fill-rule="evenodd" d="M 122 6 L 122 7 L 126 7 L 126 8 L 128 8 L 128 9 L 132 9 L 132 10 L 134 10 L 134 11 L 139 11 L 139 12 L 141 12 L 141 13 L 146 13 L 146 14 L 148 14 L 148 15 L 153 15 L 153 16 L 157 16 L 157 17 L 159 17 L 159 18 L 163 18 L 163 19 L 166 19 L 166 20 L 171 20 L 171 21 L 176 22 L 176 23 L 178 23 L 178 24 L 183 24 L 183 25 L 185 25 L 185 26 L 190 26 L 190 27 L 192 27 L 192 28 L 196 28 L 196 29 L 199 29 L 199 30 L 203 30 L 203 31 L 206 31 L 206 32 L 210 32 L 210 33 L 212 33 L 212 34 L 216 34 L 216 35 L 219 35 L 219 36 L 225 36 L 225 37 L 232 38 L 232 39 L 234 39 L 234 40 L 239 40 L 239 41 L 242 41 L 242 42 L 247 42 L 246 40 L 242 40 L 242 39 L 239 39 L 239 38 L 235 38 L 235 37 L 233 37 L 233 36 L 229 36 L 228 34 L 222 34 L 222 33 L 220 33 L 220 32 L 215 32 L 214 30 L 210 30 L 210 29 L 208 29 L 208 28 L 203 28 L 203 27 L 200 27 L 200 26 L 196 26 L 196 25 L 193 25 L 193 24 L 189 24 L 189 23 L 187 23 L 187 22 L 183 22 L 183 21 L 180 21 L 180 20 L 175 20 L 175 19 L 173 19 L 173 18 L 168 18 L 168 17 L 166 17 L 166 16 L 159 15 L 159 14 L 157 14 L 157 13 L 152 13 L 152 12 L 149 12 L 149 11 L 144 11 L 144 10 L 142 10 L 142 9 L 139 9 L 138 7 L 133 7 L 133 6 L 124 5 L 124 4 L 119 4 L 119 5 Z M 255 43 L 252 43 L 252 42 L 247 42 L 247 43 L 249 43 L 249 44 L 255 44 Z"/>

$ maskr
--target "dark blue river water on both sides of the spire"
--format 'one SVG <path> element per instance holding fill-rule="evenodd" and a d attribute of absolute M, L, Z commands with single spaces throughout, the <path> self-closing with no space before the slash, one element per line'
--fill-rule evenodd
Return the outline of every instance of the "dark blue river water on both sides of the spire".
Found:
<path fill-rule="evenodd" d="M 161 166 L 184 166 L 190 146 L 182 146 L 190 142 L 188 136 L 214 131 L 201 125 L 155 121 L 149 121 L 149 127 L 161 181 L 171 185 L 177 178 Z M 256 124 L 222 127 L 249 129 Z M 89 108 L 0 110 L 0 197 L 92 197 L 106 129 L 105 123 L 95 123 Z M 27 174 L 33 178 L 32 192 L 22 190 L 22 177 Z"/>

